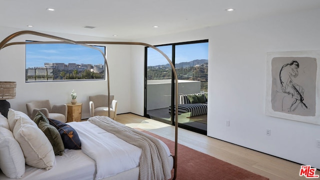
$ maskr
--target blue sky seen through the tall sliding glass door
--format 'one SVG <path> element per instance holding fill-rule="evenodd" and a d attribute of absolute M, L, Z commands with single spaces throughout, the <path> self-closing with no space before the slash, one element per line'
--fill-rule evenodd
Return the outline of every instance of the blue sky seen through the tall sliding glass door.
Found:
<path fill-rule="evenodd" d="M 172 57 L 172 46 L 157 46 L 170 59 Z M 167 60 L 156 50 L 148 48 L 148 66 L 167 64 Z M 208 59 L 208 43 L 192 43 L 175 45 L 175 63 L 188 62 L 194 59 Z"/>

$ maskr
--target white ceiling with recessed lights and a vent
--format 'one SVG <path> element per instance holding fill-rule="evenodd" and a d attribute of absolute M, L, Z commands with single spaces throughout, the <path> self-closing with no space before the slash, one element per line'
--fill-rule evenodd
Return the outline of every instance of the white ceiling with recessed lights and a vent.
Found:
<path fill-rule="evenodd" d="M 0 0 L 0 26 L 136 39 L 315 8 L 320 0 Z"/>

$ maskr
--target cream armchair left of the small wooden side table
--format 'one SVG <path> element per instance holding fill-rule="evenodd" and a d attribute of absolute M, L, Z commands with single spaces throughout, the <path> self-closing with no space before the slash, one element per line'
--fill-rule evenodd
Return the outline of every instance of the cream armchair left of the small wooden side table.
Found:
<path fill-rule="evenodd" d="M 38 111 L 46 117 L 66 122 L 66 104 L 52 105 L 49 100 L 35 100 L 25 104 L 28 116 L 33 119 Z"/>

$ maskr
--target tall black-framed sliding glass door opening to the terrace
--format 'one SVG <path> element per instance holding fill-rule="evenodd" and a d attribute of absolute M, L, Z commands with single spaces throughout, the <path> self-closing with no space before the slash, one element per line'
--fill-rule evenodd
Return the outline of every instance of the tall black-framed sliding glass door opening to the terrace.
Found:
<path fill-rule="evenodd" d="M 157 47 L 172 59 L 178 75 L 179 95 L 207 92 L 208 40 Z M 145 116 L 174 124 L 174 114 L 171 113 L 174 107 L 172 69 L 160 53 L 152 48 L 146 48 L 145 51 Z M 206 102 L 201 103 L 203 108 L 207 108 Z M 184 108 L 197 105 L 179 105 L 178 123 L 180 127 L 206 134 L 206 111 L 198 113 L 196 109 Z"/>

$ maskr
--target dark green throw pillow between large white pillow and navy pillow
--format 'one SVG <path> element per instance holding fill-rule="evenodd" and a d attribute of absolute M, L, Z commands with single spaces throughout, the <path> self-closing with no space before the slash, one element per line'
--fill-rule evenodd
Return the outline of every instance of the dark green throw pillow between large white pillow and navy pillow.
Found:
<path fill-rule="evenodd" d="M 64 145 L 59 131 L 49 123 L 39 121 L 38 127 L 49 139 L 55 155 L 63 155 Z"/>

